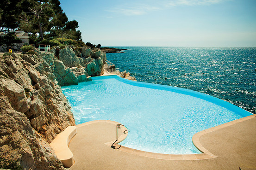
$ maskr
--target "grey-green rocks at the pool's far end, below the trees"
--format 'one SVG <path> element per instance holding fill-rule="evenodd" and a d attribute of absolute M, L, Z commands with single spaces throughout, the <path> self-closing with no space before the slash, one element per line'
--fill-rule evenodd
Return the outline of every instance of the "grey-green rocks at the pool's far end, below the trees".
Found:
<path fill-rule="evenodd" d="M 106 61 L 106 53 L 98 48 L 92 50 L 90 47 L 81 49 L 73 46 L 63 49 L 56 47 L 51 52 L 56 55 L 54 74 L 60 86 L 91 81 L 91 76 L 104 74 L 103 64 Z"/>

